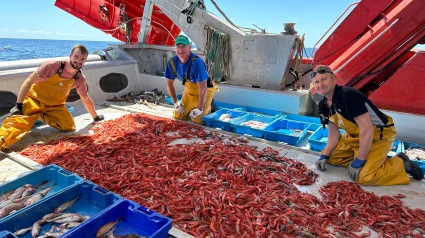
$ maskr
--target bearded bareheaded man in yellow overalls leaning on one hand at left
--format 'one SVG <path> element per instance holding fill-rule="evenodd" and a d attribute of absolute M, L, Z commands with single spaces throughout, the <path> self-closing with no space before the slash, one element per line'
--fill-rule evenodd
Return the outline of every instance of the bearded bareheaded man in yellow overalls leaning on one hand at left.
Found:
<path fill-rule="evenodd" d="M 22 84 L 16 106 L 0 128 L 0 151 L 27 134 L 38 119 L 62 131 L 75 130 L 75 123 L 65 103 L 71 89 L 76 88 L 94 121 L 104 119 L 96 113 L 87 93 L 86 78 L 80 69 L 87 60 L 83 45 L 72 48 L 68 61 L 48 61 Z"/>

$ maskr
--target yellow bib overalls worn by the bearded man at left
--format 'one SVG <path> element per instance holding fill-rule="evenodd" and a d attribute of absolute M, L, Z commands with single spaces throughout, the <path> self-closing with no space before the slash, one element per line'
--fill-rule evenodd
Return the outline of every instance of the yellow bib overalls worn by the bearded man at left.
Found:
<path fill-rule="evenodd" d="M 38 119 L 62 131 L 75 130 L 74 119 L 66 108 L 66 99 L 75 79 L 55 74 L 47 81 L 33 84 L 24 99 L 23 115 L 6 118 L 0 128 L 0 150 L 20 140 Z"/>

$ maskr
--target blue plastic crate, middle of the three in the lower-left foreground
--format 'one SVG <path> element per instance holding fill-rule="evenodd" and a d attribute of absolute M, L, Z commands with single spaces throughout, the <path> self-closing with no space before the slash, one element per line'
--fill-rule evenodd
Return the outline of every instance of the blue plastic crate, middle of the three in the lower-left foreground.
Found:
<path fill-rule="evenodd" d="M 64 212 L 90 216 L 90 219 L 100 214 L 104 209 L 111 207 L 122 200 L 121 196 L 109 192 L 94 183 L 83 181 L 76 186 L 68 187 L 68 189 L 60 193 L 43 199 L 42 202 L 39 202 L 34 206 L 23 208 L 22 210 L 9 215 L 8 219 L 0 221 L 0 230 L 15 232 L 16 230 L 30 227 L 44 215 L 52 213 L 59 205 L 74 199 L 78 195 L 80 195 L 79 199 Z M 86 220 L 82 224 L 85 224 L 90 219 Z M 41 227 L 40 234 L 43 234 L 43 231 L 49 230 L 50 225 L 51 223 L 45 223 Z M 21 237 L 30 238 L 31 232 Z"/>

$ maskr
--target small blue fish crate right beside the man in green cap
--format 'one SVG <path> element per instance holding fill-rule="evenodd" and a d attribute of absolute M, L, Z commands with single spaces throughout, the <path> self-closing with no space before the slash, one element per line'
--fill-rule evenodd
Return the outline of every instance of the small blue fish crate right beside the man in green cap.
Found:
<path fill-rule="evenodd" d="M 212 128 L 220 128 L 224 131 L 232 129 L 230 123 L 238 118 L 248 115 L 246 112 L 235 111 L 230 109 L 220 109 L 202 117 L 205 125 Z"/>

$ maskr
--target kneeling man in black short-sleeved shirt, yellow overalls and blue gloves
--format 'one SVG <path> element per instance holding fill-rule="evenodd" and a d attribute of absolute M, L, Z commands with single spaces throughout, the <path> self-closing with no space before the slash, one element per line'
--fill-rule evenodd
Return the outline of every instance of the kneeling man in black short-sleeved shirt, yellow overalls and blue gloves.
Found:
<path fill-rule="evenodd" d="M 316 67 L 311 78 L 317 93 L 324 96 L 319 115 L 329 130 L 328 143 L 316 162 L 319 170 L 325 171 L 326 163 L 348 167 L 349 176 L 362 185 L 409 184 L 407 174 L 417 180 L 424 177 L 404 153 L 387 159 L 397 134 L 391 117 L 360 91 L 337 85 L 328 66 Z"/>

